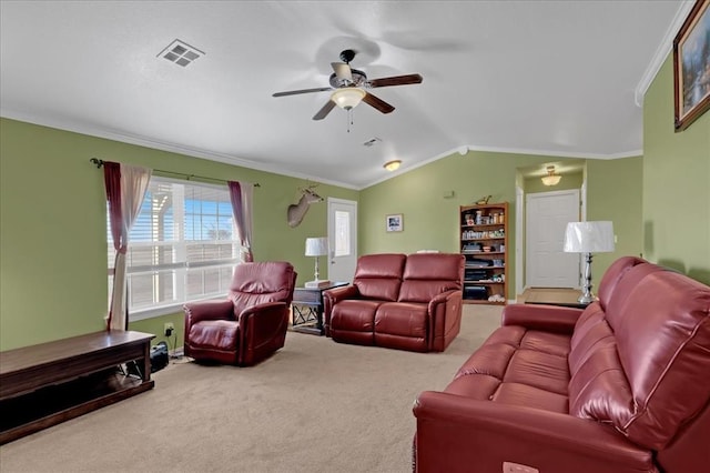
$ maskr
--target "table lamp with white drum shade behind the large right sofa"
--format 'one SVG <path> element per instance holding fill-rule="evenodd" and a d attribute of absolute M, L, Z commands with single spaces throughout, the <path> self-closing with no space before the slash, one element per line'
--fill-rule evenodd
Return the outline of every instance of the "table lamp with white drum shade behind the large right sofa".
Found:
<path fill-rule="evenodd" d="M 565 252 L 586 253 L 584 293 L 578 301 L 588 304 L 596 301 L 591 293 L 591 253 L 613 251 L 613 225 L 609 221 L 569 222 L 565 231 Z"/>

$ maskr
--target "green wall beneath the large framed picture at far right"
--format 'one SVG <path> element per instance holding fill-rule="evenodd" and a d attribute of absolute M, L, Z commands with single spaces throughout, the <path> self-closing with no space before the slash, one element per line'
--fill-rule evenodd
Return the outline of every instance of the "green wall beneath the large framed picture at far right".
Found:
<path fill-rule="evenodd" d="M 710 111 L 673 130 L 669 56 L 643 102 L 643 254 L 710 284 Z"/>

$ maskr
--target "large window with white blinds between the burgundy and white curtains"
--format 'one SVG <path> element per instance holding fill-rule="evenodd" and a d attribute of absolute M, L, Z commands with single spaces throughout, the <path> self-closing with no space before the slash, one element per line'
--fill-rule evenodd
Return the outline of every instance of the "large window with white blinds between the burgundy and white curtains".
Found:
<path fill-rule="evenodd" d="M 106 230 L 111 285 L 115 251 L 108 220 Z M 240 246 L 226 187 L 151 178 L 126 254 L 131 320 L 224 296 Z"/>

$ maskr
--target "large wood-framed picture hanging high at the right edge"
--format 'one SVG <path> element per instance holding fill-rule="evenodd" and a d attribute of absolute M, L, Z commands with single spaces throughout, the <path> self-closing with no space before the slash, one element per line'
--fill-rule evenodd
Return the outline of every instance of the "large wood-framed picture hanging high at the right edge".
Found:
<path fill-rule="evenodd" d="M 710 0 L 697 0 L 673 40 L 676 131 L 710 108 Z"/>

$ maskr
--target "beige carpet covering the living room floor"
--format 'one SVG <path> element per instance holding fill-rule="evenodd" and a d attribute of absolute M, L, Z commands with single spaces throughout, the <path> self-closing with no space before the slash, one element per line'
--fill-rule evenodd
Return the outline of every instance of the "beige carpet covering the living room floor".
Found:
<path fill-rule="evenodd" d="M 175 361 L 152 391 L 0 446 L 0 471 L 409 472 L 414 400 L 445 388 L 499 320 L 499 306 L 465 305 L 445 353 L 288 332 L 257 366 Z"/>

